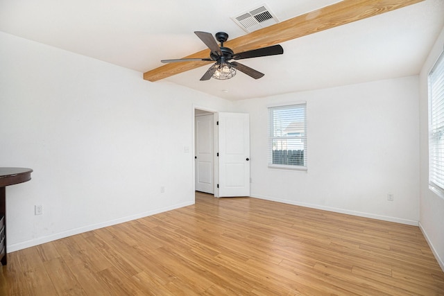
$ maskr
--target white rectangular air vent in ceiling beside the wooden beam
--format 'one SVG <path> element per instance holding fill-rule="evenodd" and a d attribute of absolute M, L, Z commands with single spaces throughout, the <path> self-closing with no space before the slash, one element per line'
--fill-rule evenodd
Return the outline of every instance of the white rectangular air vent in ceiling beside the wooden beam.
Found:
<path fill-rule="evenodd" d="M 265 28 L 273 24 L 278 24 L 279 20 L 273 12 L 264 4 L 257 8 L 250 9 L 239 13 L 236 17 L 231 18 L 246 33 Z"/>

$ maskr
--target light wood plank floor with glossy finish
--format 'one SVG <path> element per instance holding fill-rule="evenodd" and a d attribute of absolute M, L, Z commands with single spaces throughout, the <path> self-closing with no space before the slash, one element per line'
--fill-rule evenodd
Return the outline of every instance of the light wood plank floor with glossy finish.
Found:
<path fill-rule="evenodd" d="M 3 295 L 444 295 L 418 227 L 255 198 L 8 254 Z"/>

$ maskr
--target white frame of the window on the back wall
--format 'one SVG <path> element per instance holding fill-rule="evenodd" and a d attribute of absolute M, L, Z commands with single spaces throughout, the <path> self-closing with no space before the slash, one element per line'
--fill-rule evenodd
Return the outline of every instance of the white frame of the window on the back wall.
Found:
<path fill-rule="evenodd" d="M 304 134 L 302 135 L 296 135 L 293 134 L 289 137 L 276 137 L 273 136 L 273 129 L 274 129 L 274 118 L 273 118 L 273 110 L 289 110 L 292 108 L 303 108 L 303 125 L 304 125 Z M 268 168 L 281 168 L 281 169 L 287 169 L 287 170 L 294 170 L 294 171 L 307 171 L 307 103 L 306 102 L 294 102 L 294 103 L 286 103 L 286 104 L 280 104 L 280 105 L 269 105 L 267 107 L 268 112 L 268 126 L 267 126 L 267 164 Z M 297 118 L 295 118 L 297 119 Z M 276 139 L 300 139 L 303 143 L 303 162 L 304 164 L 302 166 L 296 165 L 296 164 L 273 164 L 273 140 Z"/>

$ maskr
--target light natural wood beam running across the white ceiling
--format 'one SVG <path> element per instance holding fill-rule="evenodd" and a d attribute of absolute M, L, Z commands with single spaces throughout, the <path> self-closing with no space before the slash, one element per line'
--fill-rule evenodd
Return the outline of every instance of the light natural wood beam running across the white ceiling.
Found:
<path fill-rule="evenodd" d="M 321 32 L 336 26 L 350 24 L 375 15 L 410 6 L 425 0 L 343 0 L 330 6 L 299 15 L 287 21 L 259 29 L 253 33 L 228 40 L 223 45 L 235 53 L 280 44 L 298 37 Z M 205 49 L 184 58 L 208 58 L 210 50 Z M 157 81 L 178 73 L 196 69 L 212 62 L 174 62 L 144 73 L 144 79 Z"/>

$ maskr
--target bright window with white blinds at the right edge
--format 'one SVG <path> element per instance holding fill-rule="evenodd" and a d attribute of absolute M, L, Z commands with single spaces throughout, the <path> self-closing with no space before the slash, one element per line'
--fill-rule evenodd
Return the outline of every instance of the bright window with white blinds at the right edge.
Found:
<path fill-rule="evenodd" d="M 444 197 L 444 53 L 429 73 L 429 185 Z"/>

